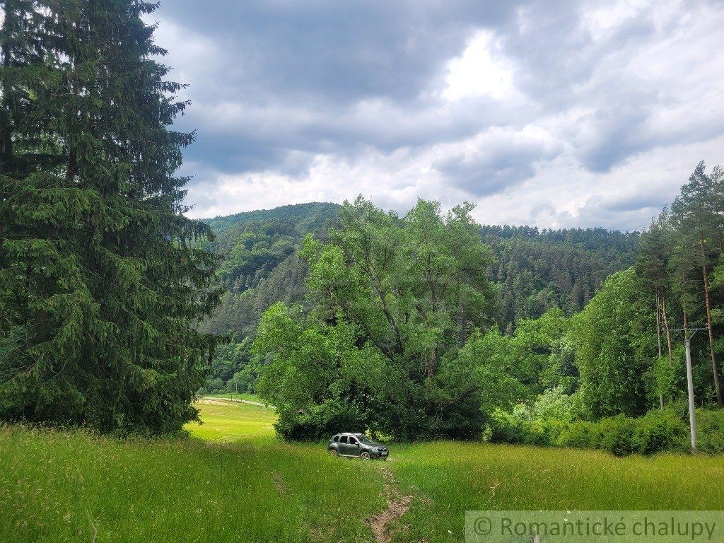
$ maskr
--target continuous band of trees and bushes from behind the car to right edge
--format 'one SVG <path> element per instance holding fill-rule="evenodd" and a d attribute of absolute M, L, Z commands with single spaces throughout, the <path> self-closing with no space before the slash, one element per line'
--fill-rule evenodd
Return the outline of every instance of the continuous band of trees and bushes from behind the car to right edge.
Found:
<path fill-rule="evenodd" d="M 593 253 L 589 261 L 610 251 L 633 264 L 603 280 L 581 311 L 554 302 L 505 329 L 500 283 L 490 279 L 498 264 L 470 207 L 442 214 L 419 201 L 397 216 L 347 203 L 340 227 L 324 240 L 307 237 L 300 253 L 309 306 L 277 303 L 264 313 L 251 344 L 256 390 L 278 406 L 277 429 L 292 439 L 345 427 L 616 454 L 686 450 L 682 340 L 699 327 L 700 442 L 722 452 L 724 411 L 712 411 L 723 345 L 720 194 L 721 169 L 707 174 L 700 164 L 640 240 L 487 227 L 497 243 L 550 236 Z"/>

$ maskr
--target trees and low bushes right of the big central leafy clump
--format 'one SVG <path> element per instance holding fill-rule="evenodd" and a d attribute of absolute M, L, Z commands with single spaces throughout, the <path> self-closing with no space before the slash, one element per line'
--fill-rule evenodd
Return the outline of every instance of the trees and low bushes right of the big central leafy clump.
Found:
<path fill-rule="evenodd" d="M 707 174 L 699 164 L 641 235 L 636 264 L 607 278 L 583 311 L 547 337 L 548 367 L 571 361 L 576 386 L 548 387 L 497 412 L 492 439 L 616 453 L 688 449 L 683 340 L 689 337 L 700 450 L 723 452 L 724 412 L 707 411 L 721 407 L 723 216 L 723 170 Z M 508 344 L 526 327 L 552 329 L 547 319 L 519 322 L 497 350 L 515 356 Z"/>

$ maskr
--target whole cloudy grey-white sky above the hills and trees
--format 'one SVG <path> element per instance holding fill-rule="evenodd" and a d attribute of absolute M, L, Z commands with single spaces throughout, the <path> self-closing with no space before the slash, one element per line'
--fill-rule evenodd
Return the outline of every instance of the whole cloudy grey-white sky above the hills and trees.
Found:
<path fill-rule="evenodd" d="M 162 0 L 196 217 L 363 194 L 646 227 L 724 162 L 724 2 Z"/>

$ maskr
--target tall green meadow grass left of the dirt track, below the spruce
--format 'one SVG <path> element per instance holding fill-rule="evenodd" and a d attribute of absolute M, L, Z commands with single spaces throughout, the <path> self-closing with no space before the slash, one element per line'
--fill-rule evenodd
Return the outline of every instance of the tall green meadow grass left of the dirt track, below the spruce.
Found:
<path fill-rule="evenodd" d="M 382 506 L 375 466 L 269 435 L 210 444 L 0 428 L 3 543 L 92 542 L 96 531 L 98 543 L 366 542 L 365 519 Z"/>

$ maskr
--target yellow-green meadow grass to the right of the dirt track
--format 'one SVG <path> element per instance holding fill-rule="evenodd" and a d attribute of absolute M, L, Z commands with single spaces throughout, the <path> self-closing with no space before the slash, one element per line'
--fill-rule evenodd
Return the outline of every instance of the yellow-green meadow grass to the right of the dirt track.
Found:
<path fill-rule="evenodd" d="M 416 496 L 397 542 L 460 541 L 466 510 L 724 508 L 723 457 L 435 442 L 393 458 L 403 492 Z"/>

